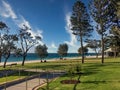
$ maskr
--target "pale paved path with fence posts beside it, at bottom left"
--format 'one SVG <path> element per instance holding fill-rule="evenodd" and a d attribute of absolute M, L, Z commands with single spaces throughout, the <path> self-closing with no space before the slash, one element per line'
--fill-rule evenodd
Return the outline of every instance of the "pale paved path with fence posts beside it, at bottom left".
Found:
<path fill-rule="evenodd" d="M 26 81 L 23 81 L 21 83 L 7 87 L 6 90 L 32 90 L 35 86 L 38 86 L 39 83 L 40 83 L 40 85 L 45 83 L 47 77 L 50 80 L 50 79 L 56 78 L 63 74 L 65 74 L 65 73 L 55 72 L 54 74 L 53 73 L 43 74 L 40 76 L 40 78 L 36 77 L 34 79 L 27 80 L 27 83 L 26 83 Z M 1 90 L 5 90 L 5 89 L 1 89 Z"/>

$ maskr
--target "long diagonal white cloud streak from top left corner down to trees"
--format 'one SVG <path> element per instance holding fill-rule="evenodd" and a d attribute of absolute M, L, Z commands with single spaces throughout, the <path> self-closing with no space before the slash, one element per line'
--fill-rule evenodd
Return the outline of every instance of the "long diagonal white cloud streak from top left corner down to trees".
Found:
<path fill-rule="evenodd" d="M 11 18 L 13 22 L 20 28 L 23 28 L 23 25 L 27 26 L 30 29 L 28 30 L 28 32 L 31 33 L 31 36 L 33 38 L 35 38 L 35 36 L 40 36 L 43 39 L 43 30 L 40 30 L 38 28 L 35 30 L 30 25 L 29 21 L 27 21 L 22 15 L 16 15 L 11 5 L 4 0 L 2 0 L 2 6 L 0 6 L 0 15 L 4 18 Z M 39 43 L 42 45 L 44 44 L 42 41 L 40 41 Z"/>

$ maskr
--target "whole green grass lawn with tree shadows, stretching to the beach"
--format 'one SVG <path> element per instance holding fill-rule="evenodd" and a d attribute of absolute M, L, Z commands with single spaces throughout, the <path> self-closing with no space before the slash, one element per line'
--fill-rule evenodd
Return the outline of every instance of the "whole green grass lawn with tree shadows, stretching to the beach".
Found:
<path fill-rule="evenodd" d="M 85 59 L 85 64 L 81 64 L 80 60 L 58 60 L 46 63 L 29 63 L 25 64 L 24 69 L 34 70 L 65 70 L 75 68 L 76 65 L 81 66 L 81 78 L 79 84 L 61 84 L 62 80 L 70 79 L 70 75 L 66 74 L 52 81 L 49 85 L 51 90 L 120 90 L 120 58 L 106 58 L 105 63 L 101 64 L 100 59 Z M 9 67 L 7 67 L 9 69 Z M 21 68 L 20 65 L 11 69 Z M 0 70 L 4 70 L 0 67 Z M 22 75 L 22 73 L 21 73 Z M 23 74 L 23 77 L 27 76 Z M 7 80 L 20 78 L 18 73 L 10 75 Z M 78 75 L 74 75 L 73 79 L 78 79 Z M 5 82 L 5 78 L 0 78 L 1 82 Z M 44 86 L 45 87 L 45 86 Z M 40 89 L 42 90 L 42 89 Z"/>

